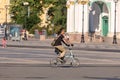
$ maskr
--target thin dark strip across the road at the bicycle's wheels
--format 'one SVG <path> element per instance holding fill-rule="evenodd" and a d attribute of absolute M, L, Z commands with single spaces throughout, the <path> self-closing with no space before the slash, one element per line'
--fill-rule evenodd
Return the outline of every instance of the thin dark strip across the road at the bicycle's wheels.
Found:
<path fill-rule="evenodd" d="M 50 64 L 20 64 L 20 63 L 0 63 L 0 67 L 52 67 Z M 118 64 L 80 64 L 77 67 L 65 64 L 57 67 L 61 68 L 82 68 L 82 67 L 120 67 Z"/>

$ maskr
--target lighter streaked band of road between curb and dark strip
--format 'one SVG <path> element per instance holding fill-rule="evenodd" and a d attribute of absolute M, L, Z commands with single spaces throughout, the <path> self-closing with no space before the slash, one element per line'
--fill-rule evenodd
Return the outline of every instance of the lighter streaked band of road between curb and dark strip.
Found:
<path fill-rule="evenodd" d="M 120 51 L 115 52 L 114 50 L 73 50 L 72 52 L 75 57 L 79 59 L 80 65 L 120 66 Z M 66 54 L 69 54 L 69 50 L 67 50 Z M 56 58 L 56 56 L 57 55 L 54 53 L 54 49 L 16 47 L 0 48 L 0 66 L 1 64 L 49 65 L 50 59 Z M 67 64 L 69 64 L 69 61 Z"/>

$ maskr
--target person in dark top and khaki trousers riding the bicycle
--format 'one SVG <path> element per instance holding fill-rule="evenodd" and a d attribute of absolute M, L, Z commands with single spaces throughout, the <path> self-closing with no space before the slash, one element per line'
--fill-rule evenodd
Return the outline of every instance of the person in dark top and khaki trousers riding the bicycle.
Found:
<path fill-rule="evenodd" d="M 65 47 L 62 45 L 62 43 L 64 43 L 66 46 L 70 46 L 70 41 L 68 38 L 66 38 L 65 36 L 65 29 L 64 28 L 61 28 L 59 31 L 58 31 L 58 36 L 57 36 L 57 40 L 55 41 L 55 44 L 54 44 L 54 47 L 56 49 L 59 50 L 59 52 L 61 52 L 58 56 L 58 58 L 62 61 L 64 61 L 64 56 L 65 56 L 65 53 L 66 53 L 66 49 Z"/>

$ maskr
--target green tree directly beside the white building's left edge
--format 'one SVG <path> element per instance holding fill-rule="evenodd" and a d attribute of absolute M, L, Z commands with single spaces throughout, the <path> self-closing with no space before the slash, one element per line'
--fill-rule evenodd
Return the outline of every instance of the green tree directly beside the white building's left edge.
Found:
<path fill-rule="evenodd" d="M 53 31 L 58 31 L 60 26 L 66 27 L 66 18 L 67 18 L 67 8 L 66 8 L 66 0 L 43 0 L 42 6 L 49 8 L 48 20 L 51 21 L 51 24 L 54 24 Z M 50 27 L 50 26 L 48 26 Z"/>

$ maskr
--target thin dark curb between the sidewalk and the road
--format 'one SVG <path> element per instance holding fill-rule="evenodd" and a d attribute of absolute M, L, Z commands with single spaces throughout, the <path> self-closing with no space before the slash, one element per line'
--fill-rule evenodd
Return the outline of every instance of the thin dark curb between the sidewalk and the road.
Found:
<path fill-rule="evenodd" d="M 2 46 L 0 44 L 0 46 Z M 54 49 L 52 46 L 31 46 L 31 45 L 7 45 L 7 47 L 18 47 L 18 48 L 41 48 L 41 49 Z M 87 51 L 103 51 L 103 52 L 120 52 L 120 48 L 102 48 L 102 47 L 73 47 L 73 50 L 87 50 Z"/>

